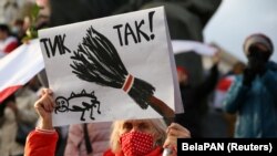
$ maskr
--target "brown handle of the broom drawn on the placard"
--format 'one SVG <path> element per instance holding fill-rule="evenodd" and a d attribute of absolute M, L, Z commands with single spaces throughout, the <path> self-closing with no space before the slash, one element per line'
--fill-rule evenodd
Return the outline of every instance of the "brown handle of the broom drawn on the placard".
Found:
<path fill-rule="evenodd" d="M 155 96 L 151 96 L 150 102 L 151 107 L 154 108 L 163 117 L 174 117 L 174 111 L 163 101 L 156 98 Z"/>

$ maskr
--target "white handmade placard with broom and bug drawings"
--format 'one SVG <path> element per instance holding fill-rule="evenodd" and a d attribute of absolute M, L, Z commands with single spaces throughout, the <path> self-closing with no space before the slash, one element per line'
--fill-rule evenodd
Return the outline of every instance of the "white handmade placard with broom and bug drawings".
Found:
<path fill-rule="evenodd" d="M 53 125 L 173 116 L 181 104 L 163 7 L 39 31 Z"/>

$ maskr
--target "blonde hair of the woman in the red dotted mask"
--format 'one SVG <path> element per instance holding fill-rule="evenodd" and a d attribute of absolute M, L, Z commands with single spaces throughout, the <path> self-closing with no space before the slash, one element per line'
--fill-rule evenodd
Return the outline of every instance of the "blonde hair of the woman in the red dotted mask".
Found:
<path fill-rule="evenodd" d="M 166 138 L 166 124 L 163 119 L 160 118 L 153 118 L 153 119 L 137 119 L 141 122 L 147 122 L 153 127 L 154 133 L 158 138 L 154 143 L 156 146 L 162 146 Z M 113 153 L 121 152 L 121 145 L 120 145 L 120 131 L 122 128 L 123 123 L 126 121 L 115 121 L 112 124 L 112 133 L 110 138 L 110 146 Z"/>

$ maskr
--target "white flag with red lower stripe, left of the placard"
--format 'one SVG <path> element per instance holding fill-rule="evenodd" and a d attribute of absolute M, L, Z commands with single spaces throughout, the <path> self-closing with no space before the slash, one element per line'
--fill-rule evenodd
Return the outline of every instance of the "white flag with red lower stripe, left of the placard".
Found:
<path fill-rule="evenodd" d="M 39 40 L 31 40 L 0 59 L 0 103 L 44 69 Z"/>

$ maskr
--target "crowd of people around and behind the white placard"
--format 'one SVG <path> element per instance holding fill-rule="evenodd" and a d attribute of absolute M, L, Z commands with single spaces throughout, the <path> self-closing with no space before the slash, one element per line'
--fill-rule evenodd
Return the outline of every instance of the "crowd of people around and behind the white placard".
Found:
<path fill-rule="evenodd" d="M 22 44 L 27 35 L 24 24 L 23 20 L 17 20 L 12 27 L 0 24 L 0 60 Z M 211 108 L 207 98 L 213 95 L 215 110 L 226 119 L 226 137 L 277 137 L 277 63 L 270 60 L 274 43 L 267 35 L 254 33 L 242 46 L 246 64 L 238 62 L 229 73 L 220 73 L 220 53 L 216 53 L 208 75 L 197 85 L 189 83 L 193 71 L 176 66 L 185 112 L 175 114 L 171 124 L 163 118 L 148 118 L 53 127 L 54 93 L 35 75 L 0 103 L 0 154 L 161 156 L 170 149 L 171 156 L 176 156 L 177 138 L 205 137 L 202 122 Z M 216 94 L 216 87 L 224 94 Z M 28 125 L 28 137 L 18 136 L 23 125 Z"/>

